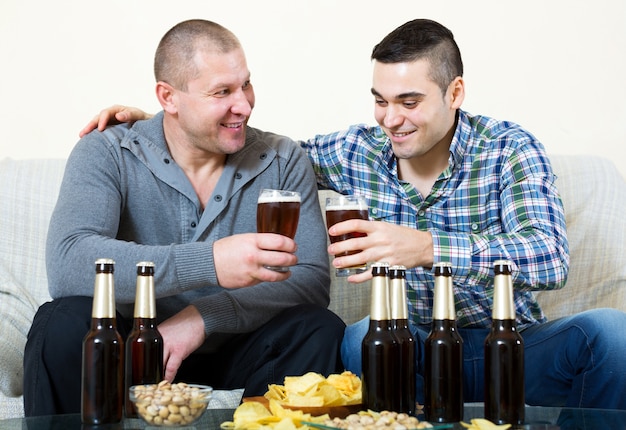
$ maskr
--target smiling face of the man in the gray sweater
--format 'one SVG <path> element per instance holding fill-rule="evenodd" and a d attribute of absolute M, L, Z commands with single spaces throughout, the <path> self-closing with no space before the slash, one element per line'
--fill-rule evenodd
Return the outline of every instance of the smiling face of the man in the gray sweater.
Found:
<path fill-rule="evenodd" d="M 162 83 L 168 93 L 162 102 L 169 114 L 164 124 L 168 144 L 194 152 L 233 154 L 245 145 L 245 127 L 254 107 L 243 50 L 198 50 L 193 62 L 196 73 L 186 89 Z"/>

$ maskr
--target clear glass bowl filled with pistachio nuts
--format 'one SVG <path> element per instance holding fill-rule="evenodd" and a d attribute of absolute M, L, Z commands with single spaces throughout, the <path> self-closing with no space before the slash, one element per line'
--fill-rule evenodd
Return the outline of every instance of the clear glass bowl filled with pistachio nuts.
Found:
<path fill-rule="evenodd" d="M 213 388 L 208 385 L 170 383 L 134 385 L 128 397 L 137 415 L 151 426 L 181 427 L 196 422 L 209 404 Z"/>

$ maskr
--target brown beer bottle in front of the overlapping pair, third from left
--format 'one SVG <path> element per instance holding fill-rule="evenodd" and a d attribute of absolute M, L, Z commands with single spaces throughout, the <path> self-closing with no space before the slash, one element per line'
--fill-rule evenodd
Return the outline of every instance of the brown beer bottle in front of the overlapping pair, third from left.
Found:
<path fill-rule="evenodd" d="M 389 265 L 372 265 L 370 323 L 361 345 L 363 407 L 393 411 L 398 405 L 398 342 L 391 332 Z"/>

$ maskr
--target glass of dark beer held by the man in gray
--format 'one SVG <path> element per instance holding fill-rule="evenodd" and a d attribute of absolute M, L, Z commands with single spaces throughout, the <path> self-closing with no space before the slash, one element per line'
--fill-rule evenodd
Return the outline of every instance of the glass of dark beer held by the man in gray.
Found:
<path fill-rule="evenodd" d="M 259 233 L 277 233 L 293 239 L 300 218 L 300 193 L 288 190 L 263 189 L 259 193 L 256 226 Z M 265 266 L 277 272 L 288 272 L 289 267 Z"/>

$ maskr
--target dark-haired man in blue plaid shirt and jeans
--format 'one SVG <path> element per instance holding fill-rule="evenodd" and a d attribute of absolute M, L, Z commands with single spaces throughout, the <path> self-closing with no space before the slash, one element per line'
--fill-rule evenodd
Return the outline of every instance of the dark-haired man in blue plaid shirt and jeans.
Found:
<path fill-rule="evenodd" d="M 569 269 L 563 206 L 543 145 L 519 125 L 461 110 L 463 64 L 452 33 L 418 19 L 373 50 L 378 126 L 302 142 L 322 188 L 363 194 L 369 221 L 330 228 L 365 237 L 337 242 L 335 267 L 386 261 L 407 267 L 417 339 L 418 401 L 424 402 L 423 342 L 430 331 L 436 262 L 451 262 L 464 339 L 464 399 L 484 400 L 483 342 L 491 325 L 493 263 L 512 262 L 517 327 L 525 345 L 526 402 L 626 409 L 626 314 L 591 310 L 547 321 L 532 292 L 565 285 Z M 81 133 L 143 119 L 135 108 L 104 110 Z M 363 282 L 364 272 L 348 278 Z M 590 286 L 593 288 L 593 286 Z M 364 319 L 346 329 L 342 358 L 361 372 Z"/>

